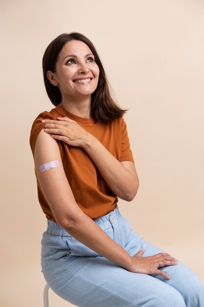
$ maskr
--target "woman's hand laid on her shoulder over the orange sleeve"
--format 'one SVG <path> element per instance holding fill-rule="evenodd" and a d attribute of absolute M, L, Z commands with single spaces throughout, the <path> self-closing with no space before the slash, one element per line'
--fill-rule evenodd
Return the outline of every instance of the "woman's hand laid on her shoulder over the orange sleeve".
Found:
<path fill-rule="evenodd" d="M 68 117 L 58 117 L 58 120 L 43 120 L 45 132 L 71 146 L 86 146 L 87 141 L 93 137 L 91 133 L 82 128 L 77 122 Z"/>

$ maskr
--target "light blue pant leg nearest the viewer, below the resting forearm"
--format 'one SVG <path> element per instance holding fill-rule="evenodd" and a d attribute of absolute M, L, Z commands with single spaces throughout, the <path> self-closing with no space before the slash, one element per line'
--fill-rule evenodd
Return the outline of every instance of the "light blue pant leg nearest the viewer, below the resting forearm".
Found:
<path fill-rule="evenodd" d="M 102 256 L 72 259 L 58 260 L 43 272 L 53 291 L 73 305 L 185 307 L 176 289 L 152 276 L 131 273 Z"/>

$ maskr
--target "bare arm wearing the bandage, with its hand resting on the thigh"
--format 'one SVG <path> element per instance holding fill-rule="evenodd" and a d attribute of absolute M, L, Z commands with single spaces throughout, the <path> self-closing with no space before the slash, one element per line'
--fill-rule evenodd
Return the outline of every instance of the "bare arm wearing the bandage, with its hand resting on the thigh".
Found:
<path fill-rule="evenodd" d="M 60 162 L 59 167 L 42 173 L 39 171 L 40 165 L 53 160 Z M 70 235 L 99 255 L 131 272 L 159 274 L 169 278 L 166 273 L 156 269 L 161 259 L 165 259 L 165 265 L 173 264 L 174 260 L 168 254 L 142 257 L 140 251 L 138 255 L 130 256 L 79 208 L 65 175 L 57 142 L 44 130 L 39 133 L 36 141 L 34 161 L 45 199 L 57 223 Z"/>

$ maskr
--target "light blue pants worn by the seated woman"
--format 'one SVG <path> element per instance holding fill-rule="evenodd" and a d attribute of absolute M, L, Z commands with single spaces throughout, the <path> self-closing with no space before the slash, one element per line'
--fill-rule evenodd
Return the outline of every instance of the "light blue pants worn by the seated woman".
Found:
<path fill-rule="evenodd" d="M 95 223 L 131 256 L 161 251 L 140 238 L 118 206 Z M 162 267 L 171 279 L 132 273 L 92 251 L 58 224 L 47 220 L 42 239 L 42 272 L 50 288 L 79 307 L 204 307 L 204 286 L 179 261 Z"/>

